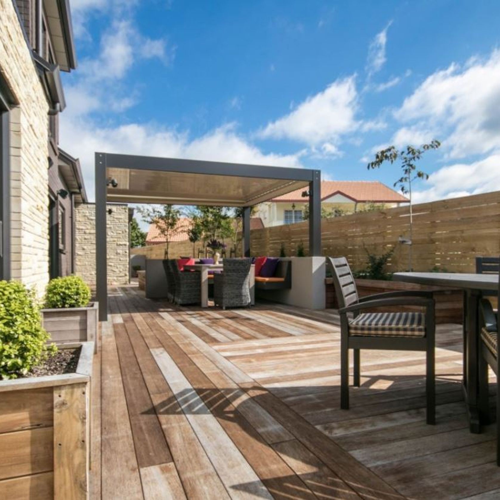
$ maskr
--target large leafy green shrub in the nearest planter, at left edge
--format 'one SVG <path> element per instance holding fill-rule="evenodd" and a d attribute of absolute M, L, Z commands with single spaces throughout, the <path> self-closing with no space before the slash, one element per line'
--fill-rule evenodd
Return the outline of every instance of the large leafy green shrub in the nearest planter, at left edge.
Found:
<path fill-rule="evenodd" d="M 17 378 L 41 363 L 55 346 L 41 326 L 32 291 L 17 281 L 0 281 L 0 378 Z"/>

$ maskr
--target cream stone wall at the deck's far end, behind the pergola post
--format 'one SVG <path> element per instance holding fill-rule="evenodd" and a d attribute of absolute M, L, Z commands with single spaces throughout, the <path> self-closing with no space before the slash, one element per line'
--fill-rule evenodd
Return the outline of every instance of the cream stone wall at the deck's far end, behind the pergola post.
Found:
<path fill-rule="evenodd" d="M 107 282 L 128 283 L 128 206 L 110 204 L 107 214 Z M 95 287 L 95 204 L 75 207 L 75 273 Z"/>

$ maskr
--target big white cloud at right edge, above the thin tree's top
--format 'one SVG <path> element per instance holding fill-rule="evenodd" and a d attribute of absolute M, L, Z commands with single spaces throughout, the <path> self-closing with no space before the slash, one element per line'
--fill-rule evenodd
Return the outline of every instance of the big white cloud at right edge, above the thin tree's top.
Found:
<path fill-rule="evenodd" d="M 500 147 L 500 50 L 428 76 L 394 113 L 403 123 L 419 120 L 439 130 L 450 158 Z"/>

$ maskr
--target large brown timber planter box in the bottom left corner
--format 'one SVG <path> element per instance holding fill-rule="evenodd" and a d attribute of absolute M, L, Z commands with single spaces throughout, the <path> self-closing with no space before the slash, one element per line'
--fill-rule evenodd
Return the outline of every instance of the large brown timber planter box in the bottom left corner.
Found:
<path fill-rule="evenodd" d="M 88 498 L 93 342 L 74 373 L 0 380 L 0 498 Z"/>

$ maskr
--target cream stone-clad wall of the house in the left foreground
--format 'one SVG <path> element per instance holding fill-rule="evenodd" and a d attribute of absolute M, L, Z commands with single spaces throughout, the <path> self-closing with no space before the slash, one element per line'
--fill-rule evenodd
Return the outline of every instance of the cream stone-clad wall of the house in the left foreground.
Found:
<path fill-rule="evenodd" d="M 0 0 L 0 77 L 10 120 L 11 277 L 42 293 L 48 281 L 48 104 L 12 0 Z"/>

